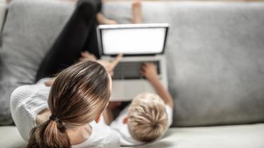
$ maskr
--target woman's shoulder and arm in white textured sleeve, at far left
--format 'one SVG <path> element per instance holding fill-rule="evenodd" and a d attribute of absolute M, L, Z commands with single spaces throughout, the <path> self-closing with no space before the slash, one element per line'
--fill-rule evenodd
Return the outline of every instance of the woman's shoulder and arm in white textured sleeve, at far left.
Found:
<path fill-rule="evenodd" d="M 48 109 L 49 88 L 43 83 L 20 86 L 11 94 L 11 114 L 15 126 L 25 141 L 30 138 L 30 130 L 45 121 L 39 114 Z M 45 113 L 46 114 L 46 113 Z"/>

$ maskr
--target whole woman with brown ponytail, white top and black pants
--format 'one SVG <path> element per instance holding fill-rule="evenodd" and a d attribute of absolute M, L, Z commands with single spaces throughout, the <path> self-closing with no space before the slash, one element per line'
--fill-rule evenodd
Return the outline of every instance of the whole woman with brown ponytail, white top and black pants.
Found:
<path fill-rule="evenodd" d="M 96 8 L 96 1 L 78 1 L 39 67 L 37 83 L 20 86 L 11 95 L 12 117 L 20 135 L 29 140 L 27 147 L 119 147 L 118 137 L 100 119 L 111 94 L 108 72 L 120 56 L 113 62 L 99 61 L 101 65 L 91 61 L 73 65 L 81 51 L 96 45 L 90 39 Z M 99 56 L 96 49 L 89 52 Z M 56 73 L 54 81 L 42 79 Z"/>

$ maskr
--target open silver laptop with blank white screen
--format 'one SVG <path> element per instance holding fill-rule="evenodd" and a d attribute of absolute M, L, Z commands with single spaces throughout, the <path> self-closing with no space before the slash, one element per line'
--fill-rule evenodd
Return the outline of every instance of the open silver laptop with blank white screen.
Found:
<path fill-rule="evenodd" d="M 155 93 L 151 83 L 140 74 L 144 62 L 156 65 L 158 79 L 168 88 L 164 55 L 168 29 L 169 25 L 166 23 L 97 27 L 101 58 L 111 60 L 123 53 L 122 60 L 113 70 L 111 101 L 129 101 L 139 93 Z"/>

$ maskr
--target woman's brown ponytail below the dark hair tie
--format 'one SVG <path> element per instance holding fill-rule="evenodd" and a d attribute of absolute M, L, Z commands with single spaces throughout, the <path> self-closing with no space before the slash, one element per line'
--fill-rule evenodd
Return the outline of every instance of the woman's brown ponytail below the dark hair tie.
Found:
<path fill-rule="evenodd" d="M 49 119 L 45 123 L 33 128 L 30 137 L 27 148 L 70 147 L 70 139 L 61 121 Z"/>

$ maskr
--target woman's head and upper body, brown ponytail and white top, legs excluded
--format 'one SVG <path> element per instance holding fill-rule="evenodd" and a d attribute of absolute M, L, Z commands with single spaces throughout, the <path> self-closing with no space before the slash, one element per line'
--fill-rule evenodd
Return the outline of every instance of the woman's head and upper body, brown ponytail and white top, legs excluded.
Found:
<path fill-rule="evenodd" d="M 60 72 L 51 88 L 44 81 L 11 95 L 12 116 L 27 147 L 119 147 L 118 136 L 101 119 L 111 95 L 103 66 L 80 62 Z"/>

